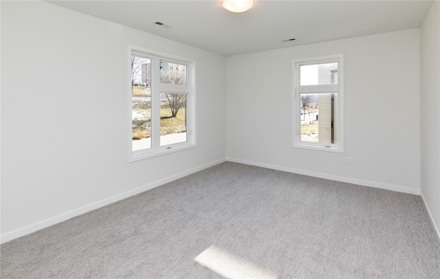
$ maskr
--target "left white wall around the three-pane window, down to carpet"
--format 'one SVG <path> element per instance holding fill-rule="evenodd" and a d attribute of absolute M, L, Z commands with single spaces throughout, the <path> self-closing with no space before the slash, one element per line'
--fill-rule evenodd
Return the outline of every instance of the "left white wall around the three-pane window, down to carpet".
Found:
<path fill-rule="evenodd" d="M 128 163 L 127 45 L 197 60 L 197 148 Z M 1 1 L 1 81 L 2 242 L 225 158 L 223 56 L 50 3 Z"/>

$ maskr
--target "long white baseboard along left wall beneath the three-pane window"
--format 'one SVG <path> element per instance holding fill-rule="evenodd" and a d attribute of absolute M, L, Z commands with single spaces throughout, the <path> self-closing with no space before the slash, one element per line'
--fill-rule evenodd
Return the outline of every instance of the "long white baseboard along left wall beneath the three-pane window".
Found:
<path fill-rule="evenodd" d="M 26 234 L 30 234 L 32 232 L 36 232 L 38 230 L 44 229 L 45 227 L 50 227 L 51 225 L 55 225 L 56 223 L 61 223 L 63 221 L 66 221 L 68 219 L 71 219 L 75 216 L 79 216 L 81 214 L 90 212 L 91 210 L 96 210 L 98 208 L 102 208 L 105 205 L 109 205 L 110 203 L 114 203 L 116 201 L 120 201 L 122 199 L 126 199 L 128 197 L 134 196 L 135 194 L 140 194 L 141 192 L 145 192 L 146 190 L 151 190 L 153 188 L 156 188 L 158 186 L 161 186 L 165 183 L 174 181 L 176 179 L 179 179 L 181 177 L 186 177 L 187 175 L 191 175 L 192 173 L 198 172 L 200 170 L 204 170 L 205 168 L 210 168 L 211 166 L 215 166 L 217 164 L 223 163 L 223 161 L 226 161 L 226 159 L 219 159 L 217 161 L 212 161 L 209 164 L 199 166 L 197 168 L 192 168 L 191 170 L 186 170 L 185 172 L 180 172 L 177 175 L 173 175 L 171 177 L 166 177 L 165 179 L 161 179 L 159 181 L 155 181 L 152 183 L 148 183 L 144 186 L 135 188 L 133 190 L 129 190 L 127 192 L 123 192 L 120 194 L 117 194 L 113 197 L 109 197 L 107 199 L 102 199 L 101 201 L 97 201 L 96 203 L 91 203 L 89 205 L 85 205 L 81 208 L 77 208 L 75 210 L 71 210 L 69 212 L 65 212 L 63 214 L 59 214 L 57 216 L 53 216 L 49 219 L 45 219 L 43 221 L 39 221 L 37 223 L 34 223 L 32 225 L 28 225 L 25 227 L 21 227 L 18 230 L 14 230 L 12 232 L 8 232 L 5 234 L 2 234 L 0 236 L 0 243 L 6 243 L 8 241 L 12 241 L 15 238 L 19 238 L 21 236 L 25 236 Z"/>

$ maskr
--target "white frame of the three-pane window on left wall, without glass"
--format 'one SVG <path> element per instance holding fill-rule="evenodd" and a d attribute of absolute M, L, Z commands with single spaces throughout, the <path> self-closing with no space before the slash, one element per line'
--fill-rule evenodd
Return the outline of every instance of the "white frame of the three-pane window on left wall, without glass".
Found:
<path fill-rule="evenodd" d="M 132 139 L 132 88 L 131 56 L 137 55 L 151 59 L 151 148 L 133 151 Z M 187 84 L 172 85 L 159 80 L 159 60 L 187 66 Z M 196 61 L 150 49 L 129 45 L 127 51 L 127 139 L 129 162 L 148 159 L 197 147 L 195 133 L 195 66 Z M 186 93 L 186 142 L 160 146 L 160 93 Z"/>

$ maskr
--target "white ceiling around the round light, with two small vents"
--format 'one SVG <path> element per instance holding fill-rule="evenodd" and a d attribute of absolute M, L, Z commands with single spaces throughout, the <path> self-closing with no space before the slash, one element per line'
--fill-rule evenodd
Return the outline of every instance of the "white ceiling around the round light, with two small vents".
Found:
<path fill-rule="evenodd" d="M 221 0 L 48 2 L 230 56 L 420 27 L 433 1 L 255 0 L 239 14 Z"/>

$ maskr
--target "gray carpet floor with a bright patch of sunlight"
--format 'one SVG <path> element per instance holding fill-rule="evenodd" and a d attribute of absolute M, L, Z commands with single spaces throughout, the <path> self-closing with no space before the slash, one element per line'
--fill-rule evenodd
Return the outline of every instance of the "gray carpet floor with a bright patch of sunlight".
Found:
<path fill-rule="evenodd" d="M 1 278 L 440 278 L 419 196 L 225 162 L 1 245 Z"/>

